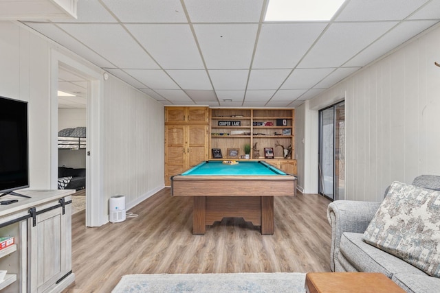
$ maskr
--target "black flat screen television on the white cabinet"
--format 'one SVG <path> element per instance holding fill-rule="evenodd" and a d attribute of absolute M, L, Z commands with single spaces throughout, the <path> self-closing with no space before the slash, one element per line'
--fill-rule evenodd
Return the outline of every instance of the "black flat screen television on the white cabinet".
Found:
<path fill-rule="evenodd" d="M 0 97 L 0 196 L 29 187 L 28 102 Z"/>

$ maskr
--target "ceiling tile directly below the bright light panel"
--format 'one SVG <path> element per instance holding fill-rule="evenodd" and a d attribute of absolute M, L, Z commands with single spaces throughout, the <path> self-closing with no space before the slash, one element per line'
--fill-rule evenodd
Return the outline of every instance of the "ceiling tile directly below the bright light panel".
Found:
<path fill-rule="evenodd" d="M 325 23 L 263 24 L 252 68 L 294 68 L 326 25 Z"/>

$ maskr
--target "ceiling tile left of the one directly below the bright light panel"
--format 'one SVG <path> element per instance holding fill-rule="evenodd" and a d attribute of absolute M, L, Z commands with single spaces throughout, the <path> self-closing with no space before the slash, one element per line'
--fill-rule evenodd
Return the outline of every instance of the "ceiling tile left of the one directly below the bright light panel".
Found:
<path fill-rule="evenodd" d="M 208 69 L 248 69 L 258 25 L 194 25 Z"/>

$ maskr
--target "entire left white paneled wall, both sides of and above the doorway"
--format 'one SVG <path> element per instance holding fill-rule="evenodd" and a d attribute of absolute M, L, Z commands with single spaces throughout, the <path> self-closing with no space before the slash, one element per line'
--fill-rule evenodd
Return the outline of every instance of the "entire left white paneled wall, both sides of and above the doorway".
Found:
<path fill-rule="evenodd" d="M 29 102 L 30 188 L 51 187 L 51 54 L 65 54 L 97 74 L 102 69 L 50 40 L 9 21 L 0 21 L 0 95 Z M 104 82 L 102 108 L 104 158 L 99 206 L 111 196 L 127 196 L 126 207 L 164 187 L 164 106 L 112 76 Z M 98 119 L 93 117 L 92 119 Z M 58 152 L 58 150 L 54 150 Z M 96 154 L 96 152 L 95 152 Z M 56 180 L 56 178 L 55 178 Z M 93 213 L 93 211 L 92 211 Z"/>

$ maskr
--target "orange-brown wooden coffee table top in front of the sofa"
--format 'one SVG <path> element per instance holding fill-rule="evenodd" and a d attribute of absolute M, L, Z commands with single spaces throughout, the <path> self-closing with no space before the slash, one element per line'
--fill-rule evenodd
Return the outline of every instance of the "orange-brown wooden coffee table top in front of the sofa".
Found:
<path fill-rule="evenodd" d="M 307 293 L 405 293 L 378 272 L 308 272 L 305 290 Z"/>

